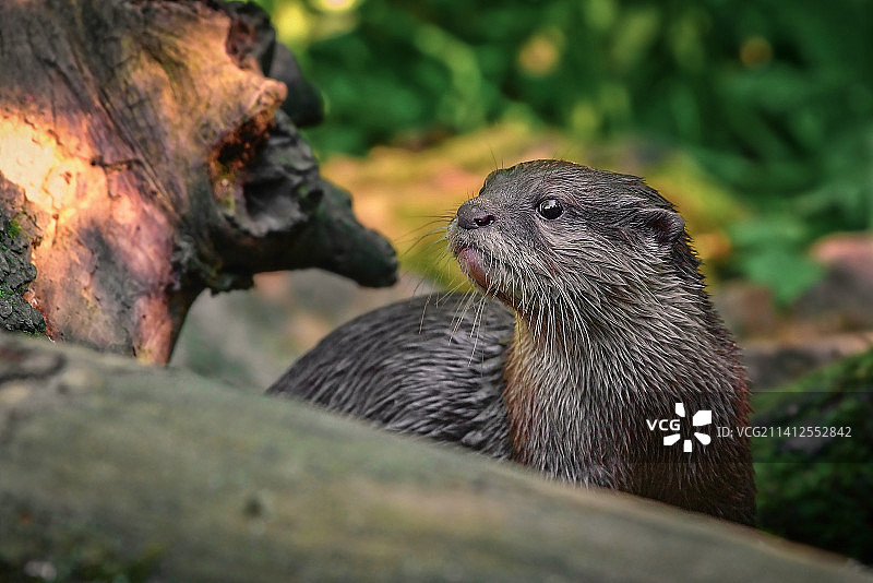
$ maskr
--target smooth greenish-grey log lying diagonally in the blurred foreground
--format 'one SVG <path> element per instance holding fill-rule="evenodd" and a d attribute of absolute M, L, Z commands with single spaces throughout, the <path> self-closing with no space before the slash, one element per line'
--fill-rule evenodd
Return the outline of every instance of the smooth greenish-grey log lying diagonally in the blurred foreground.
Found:
<path fill-rule="evenodd" d="M 0 580 L 870 581 L 189 372 L 0 335 Z"/>

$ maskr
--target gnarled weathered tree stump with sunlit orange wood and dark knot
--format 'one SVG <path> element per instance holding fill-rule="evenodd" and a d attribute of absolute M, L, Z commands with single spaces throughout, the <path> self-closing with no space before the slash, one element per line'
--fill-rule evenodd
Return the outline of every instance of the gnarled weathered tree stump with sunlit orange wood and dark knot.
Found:
<path fill-rule="evenodd" d="M 264 22 L 206 0 L 0 3 L 0 212 L 33 242 L 51 337 L 164 362 L 205 287 L 301 266 L 393 282 L 390 245 L 275 116 L 286 86 L 259 63 L 303 95 L 298 120 L 319 112 Z"/>

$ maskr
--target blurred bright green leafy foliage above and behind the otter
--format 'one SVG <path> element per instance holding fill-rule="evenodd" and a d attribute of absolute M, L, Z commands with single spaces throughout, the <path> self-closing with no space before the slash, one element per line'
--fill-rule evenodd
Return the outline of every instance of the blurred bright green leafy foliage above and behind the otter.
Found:
<path fill-rule="evenodd" d="M 262 4 L 327 99 L 327 121 L 310 135 L 323 152 L 363 154 L 518 112 L 578 140 L 666 139 L 764 222 L 802 226 L 799 237 L 780 227 L 738 239 L 736 266 L 782 299 L 814 281 L 799 259 L 811 240 L 873 227 L 863 0 Z"/>

